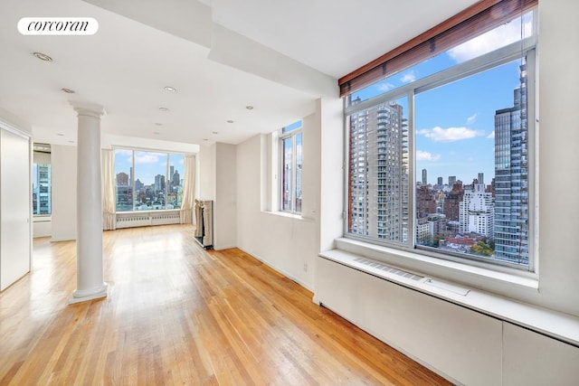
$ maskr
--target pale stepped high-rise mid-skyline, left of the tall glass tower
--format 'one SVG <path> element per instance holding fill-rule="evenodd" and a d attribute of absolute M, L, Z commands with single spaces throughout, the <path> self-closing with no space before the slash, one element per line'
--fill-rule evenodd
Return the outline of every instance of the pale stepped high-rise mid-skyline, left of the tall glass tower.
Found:
<path fill-rule="evenodd" d="M 492 239 L 494 235 L 495 204 L 492 194 L 485 192 L 485 185 L 476 180 L 467 185 L 460 202 L 460 232 L 475 232 Z"/>

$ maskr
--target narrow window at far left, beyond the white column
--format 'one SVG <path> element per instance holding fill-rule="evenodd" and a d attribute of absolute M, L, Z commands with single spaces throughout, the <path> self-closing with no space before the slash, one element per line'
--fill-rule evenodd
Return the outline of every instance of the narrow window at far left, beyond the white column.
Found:
<path fill-rule="evenodd" d="M 33 215 L 52 214 L 52 166 L 51 146 L 33 146 Z"/>

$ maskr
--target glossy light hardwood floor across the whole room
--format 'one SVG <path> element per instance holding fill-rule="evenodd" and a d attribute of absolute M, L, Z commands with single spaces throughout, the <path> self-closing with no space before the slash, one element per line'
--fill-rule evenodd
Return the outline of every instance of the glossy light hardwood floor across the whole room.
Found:
<path fill-rule="evenodd" d="M 448 384 L 186 225 L 104 232 L 109 296 L 67 306 L 75 243 L 33 242 L 0 294 L 0 385 Z"/>

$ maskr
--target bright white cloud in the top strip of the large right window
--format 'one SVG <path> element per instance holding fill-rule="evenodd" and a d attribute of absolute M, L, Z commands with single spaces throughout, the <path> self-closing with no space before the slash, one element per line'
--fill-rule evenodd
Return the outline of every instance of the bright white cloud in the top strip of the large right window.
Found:
<path fill-rule="evenodd" d="M 532 32 L 532 23 L 525 20 L 521 29 L 520 19 L 515 19 L 508 24 L 503 24 L 488 33 L 483 33 L 468 42 L 449 50 L 448 54 L 452 60 L 457 62 L 468 61 L 484 53 L 497 50 L 512 42 L 518 42 L 521 35 L 529 36 Z"/>

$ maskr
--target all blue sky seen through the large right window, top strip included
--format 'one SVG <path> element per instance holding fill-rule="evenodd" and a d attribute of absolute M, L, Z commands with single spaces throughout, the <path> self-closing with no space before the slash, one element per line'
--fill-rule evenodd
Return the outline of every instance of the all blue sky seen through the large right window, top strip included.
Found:
<path fill-rule="evenodd" d="M 517 42 L 522 34 L 531 33 L 530 14 L 525 16 L 522 25 L 521 28 L 520 20 L 503 24 L 449 52 L 357 91 L 352 98 L 369 99 Z M 513 107 L 513 91 L 520 85 L 519 64 L 520 61 L 509 62 L 415 96 L 416 181 L 422 179 L 422 169 L 426 169 L 429 184 L 436 184 L 438 177 L 447 184 L 449 175 L 470 184 L 479 173 L 484 173 L 485 184 L 490 184 L 495 167 L 495 111 Z M 408 111 L 405 99 L 397 102 Z"/>

